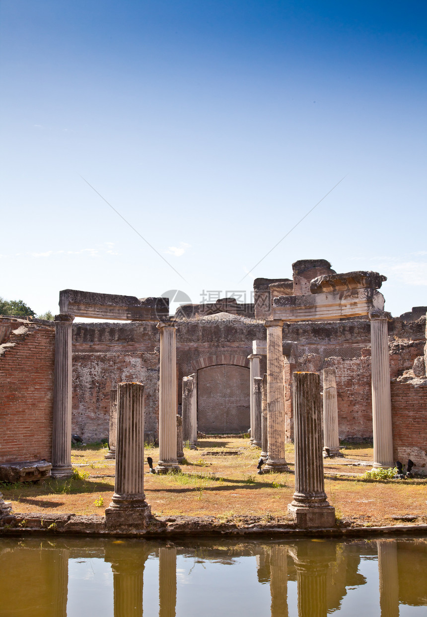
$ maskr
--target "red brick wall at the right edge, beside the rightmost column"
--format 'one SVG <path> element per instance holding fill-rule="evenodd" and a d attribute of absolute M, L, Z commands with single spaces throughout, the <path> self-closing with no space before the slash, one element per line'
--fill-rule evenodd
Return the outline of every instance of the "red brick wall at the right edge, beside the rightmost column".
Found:
<path fill-rule="evenodd" d="M 414 471 L 427 473 L 427 385 L 391 383 L 394 460 L 413 460 Z"/>

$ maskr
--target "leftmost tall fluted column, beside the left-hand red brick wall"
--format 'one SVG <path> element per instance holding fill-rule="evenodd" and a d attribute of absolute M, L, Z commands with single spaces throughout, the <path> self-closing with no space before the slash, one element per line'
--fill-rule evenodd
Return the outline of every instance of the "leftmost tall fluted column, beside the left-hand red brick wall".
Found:
<path fill-rule="evenodd" d="M 71 466 L 71 345 L 74 315 L 55 315 L 55 372 L 52 417 L 52 471 L 54 478 L 70 478 Z"/>

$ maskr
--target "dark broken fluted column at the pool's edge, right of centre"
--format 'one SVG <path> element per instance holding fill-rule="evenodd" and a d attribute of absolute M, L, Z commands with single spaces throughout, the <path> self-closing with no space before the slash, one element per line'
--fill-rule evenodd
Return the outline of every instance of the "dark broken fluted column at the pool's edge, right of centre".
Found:
<path fill-rule="evenodd" d="M 294 373 L 295 492 L 288 510 L 299 528 L 334 527 L 323 476 L 320 379 Z"/>

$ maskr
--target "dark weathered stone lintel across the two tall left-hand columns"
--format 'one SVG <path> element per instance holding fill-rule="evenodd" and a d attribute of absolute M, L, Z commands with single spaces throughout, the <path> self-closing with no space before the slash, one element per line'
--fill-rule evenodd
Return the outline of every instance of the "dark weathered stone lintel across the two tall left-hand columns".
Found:
<path fill-rule="evenodd" d="M 169 315 L 169 299 L 115 294 L 97 294 L 78 289 L 63 289 L 59 292 L 60 313 L 77 317 L 114 319 L 119 321 L 158 321 Z"/>

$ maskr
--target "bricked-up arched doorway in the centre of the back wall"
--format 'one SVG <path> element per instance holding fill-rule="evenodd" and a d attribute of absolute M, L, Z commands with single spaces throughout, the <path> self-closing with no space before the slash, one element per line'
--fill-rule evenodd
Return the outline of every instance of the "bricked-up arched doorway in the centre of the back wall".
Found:
<path fill-rule="evenodd" d="M 218 364 L 197 371 L 197 429 L 245 433 L 251 424 L 249 368 Z"/>

